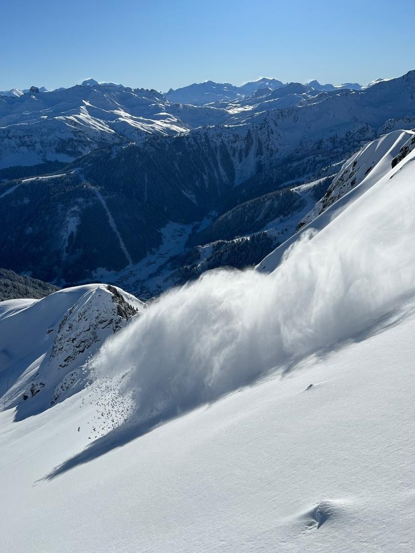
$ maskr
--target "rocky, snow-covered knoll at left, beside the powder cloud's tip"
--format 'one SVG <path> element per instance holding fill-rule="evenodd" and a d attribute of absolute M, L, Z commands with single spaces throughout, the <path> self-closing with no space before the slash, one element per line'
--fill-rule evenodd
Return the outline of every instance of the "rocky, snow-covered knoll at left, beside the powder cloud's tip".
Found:
<path fill-rule="evenodd" d="M 143 311 L 114 286 L 59 290 L 42 300 L 0 302 L 0 380 L 6 408 L 23 418 L 82 389 L 102 342 Z"/>

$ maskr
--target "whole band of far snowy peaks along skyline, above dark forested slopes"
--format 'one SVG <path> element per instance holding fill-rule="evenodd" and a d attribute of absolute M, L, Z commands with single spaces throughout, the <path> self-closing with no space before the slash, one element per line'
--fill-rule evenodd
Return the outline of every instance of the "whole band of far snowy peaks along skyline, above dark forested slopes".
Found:
<path fill-rule="evenodd" d="M 50 92 L 35 86 L 13 89 L 0 96 L 0 170 L 49 161 L 68 163 L 102 144 L 123 145 L 196 127 L 243 124 L 272 109 L 320 100 L 320 93 L 358 87 L 317 81 L 283 84 L 276 79 L 235 87 L 207 81 L 163 95 L 87 79 Z"/>

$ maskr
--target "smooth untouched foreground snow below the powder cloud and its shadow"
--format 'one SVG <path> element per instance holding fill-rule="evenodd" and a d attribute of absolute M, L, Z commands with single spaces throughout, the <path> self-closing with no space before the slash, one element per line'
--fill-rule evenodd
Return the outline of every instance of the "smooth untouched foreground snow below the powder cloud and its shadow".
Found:
<path fill-rule="evenodd" d="M 396 311 L 61 473 L 94 439 L 102 389 L 0 413 L 0 550 L 413 551 L 414 332 Z"/>

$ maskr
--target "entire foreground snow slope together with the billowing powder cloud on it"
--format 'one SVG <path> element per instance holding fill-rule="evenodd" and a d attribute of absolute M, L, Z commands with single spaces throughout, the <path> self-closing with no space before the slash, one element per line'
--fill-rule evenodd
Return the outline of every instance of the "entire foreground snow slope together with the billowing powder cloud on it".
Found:
<path fill-rule="evenodd" d="M 171 291 L 89 388 L 1 413 L 4 549 L 412 551 L 414 178 L 413 150 L 271 274 Z"/>

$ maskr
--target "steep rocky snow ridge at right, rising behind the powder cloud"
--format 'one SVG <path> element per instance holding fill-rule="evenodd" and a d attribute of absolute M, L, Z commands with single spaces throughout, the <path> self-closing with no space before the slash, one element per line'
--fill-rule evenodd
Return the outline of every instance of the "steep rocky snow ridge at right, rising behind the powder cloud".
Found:
<path fill-rule="evenodd" d="M 362 184 L 361 191 L 369 189 L 411 152 L 414 144 L 415 132 L 395 131 L 364 146 L 346 161 L 324 197 L 298 223 L 298 228 L 308 225 L 355 186 Z"/>

